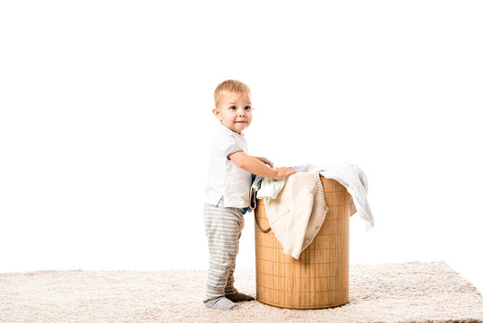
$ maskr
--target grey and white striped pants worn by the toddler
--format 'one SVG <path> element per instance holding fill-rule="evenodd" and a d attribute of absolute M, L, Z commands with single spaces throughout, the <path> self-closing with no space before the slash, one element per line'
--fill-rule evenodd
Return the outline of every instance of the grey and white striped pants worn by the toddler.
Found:
<path fill-rule="evenodd" d="M 238 240 L 245 226 L 241 209 L 205 204 L 203 209 L 204 231 L 208 238 L 210 266 L 206 283 L 206 299 L 213 300 L 224 295 L 237 294 L 235 282 L 235 260 Z"/>

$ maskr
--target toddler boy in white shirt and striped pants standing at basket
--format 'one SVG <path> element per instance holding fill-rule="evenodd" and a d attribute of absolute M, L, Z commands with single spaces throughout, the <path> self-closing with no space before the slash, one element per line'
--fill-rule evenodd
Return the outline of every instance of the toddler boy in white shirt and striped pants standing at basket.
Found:
<path fill-rule="evenodd" d="M 288 167 L 274 169 L 264 157 L 247 154 L 242 133 L 252 122 L 251 92 L 245 83 L 228 80 L 214 92 L 213 114 L 220 127 L 211 147 L 204 214 L 210 266 L 204 304 L 213 309 L 230 310 L 237 301 L 254 297 L 238 292 L 233 286 L 233 272 L 238 240 L 244 227 L 242 208 L 250 204 L 252 174 L 269 179 L 283 179 L 295 173 Z M 266 164 L 269 164 L 268 167 Z"/>

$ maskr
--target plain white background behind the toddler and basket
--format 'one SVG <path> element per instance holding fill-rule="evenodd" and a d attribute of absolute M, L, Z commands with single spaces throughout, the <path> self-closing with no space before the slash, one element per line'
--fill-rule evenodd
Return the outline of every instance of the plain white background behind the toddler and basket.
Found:
<path fill-rule="evenodd" d="M 208 266 L 212 92 L 249 153 L 353 162 L 350 264 L 444 260 L 483 291 L 483 4 L 4 1 L 0 272 Z M 253 214 L 237 267 L 254 267 Z"/>

